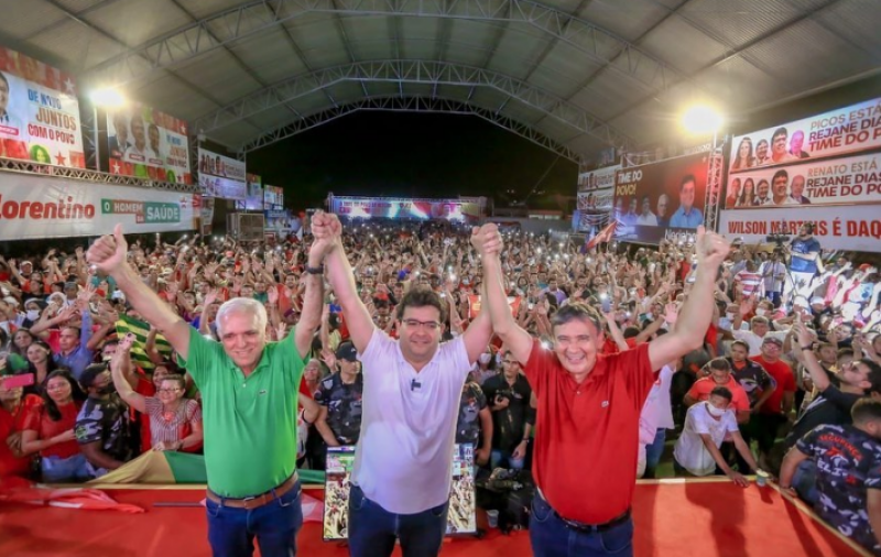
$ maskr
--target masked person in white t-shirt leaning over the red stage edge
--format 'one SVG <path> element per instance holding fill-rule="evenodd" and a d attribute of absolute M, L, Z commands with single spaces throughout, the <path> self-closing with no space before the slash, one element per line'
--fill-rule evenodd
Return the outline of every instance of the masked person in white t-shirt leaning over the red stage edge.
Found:
<path fill-rule="evenodd" d="M 725 438 L 730 436 L 743 460 L 752 470 L 758 470 L 749 446 L 740 436 L 735 414 L 728 409 L 731 398 L 731 391 L 717 386 L 710 392 L 708 401 L 688 408 L 685 427 L 673 449 L 673 466 L 677 473 L 713 476 L 718 467 L 736 484 L 741 488 L 749 485 L 749 480 L 732 470 L 719 451 Z"/>

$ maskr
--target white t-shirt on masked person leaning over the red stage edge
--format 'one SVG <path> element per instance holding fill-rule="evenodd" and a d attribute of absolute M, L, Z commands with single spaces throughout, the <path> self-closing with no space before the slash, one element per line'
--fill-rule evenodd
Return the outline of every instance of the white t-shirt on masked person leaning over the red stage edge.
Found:
<path fill-rule="evenodd" d="M 716 461 L 704 446 L 700 435 L 708 434 L 718 448 L 722 446 L 726 434 L 738 430 L 733 411 L 725 411 L 722 417 L 716 421 L 707 409 L 708 405 L 708 402 L 699 402 L 688 408 L 685 427 L 673 449 L 676 462 L 695 476 L 710 476 L 716 471 Z"/>

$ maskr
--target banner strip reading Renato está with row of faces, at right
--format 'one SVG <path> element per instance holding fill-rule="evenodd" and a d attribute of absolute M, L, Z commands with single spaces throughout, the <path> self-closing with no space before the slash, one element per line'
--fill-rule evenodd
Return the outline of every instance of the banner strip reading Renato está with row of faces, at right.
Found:
<path fill-rule="evenodd" d="M 881 153 L 753 168 L 728 176 L 726 209 L 881 204 Z"/>

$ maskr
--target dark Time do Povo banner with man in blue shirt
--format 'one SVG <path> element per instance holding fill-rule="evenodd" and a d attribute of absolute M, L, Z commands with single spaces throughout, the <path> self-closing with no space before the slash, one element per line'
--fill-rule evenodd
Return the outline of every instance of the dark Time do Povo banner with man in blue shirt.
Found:
<path fill-rule="evenodd" d="M 704 223 L 709 160 L 697 153 L 618 171 L 616 239 L 659 243 L 670 230 L 694 232 Z"/>

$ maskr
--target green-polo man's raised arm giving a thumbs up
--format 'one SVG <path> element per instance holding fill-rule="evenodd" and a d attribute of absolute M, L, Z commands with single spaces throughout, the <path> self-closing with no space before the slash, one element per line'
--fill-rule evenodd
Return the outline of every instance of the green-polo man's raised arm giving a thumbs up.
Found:
<path fill-rule="evenodd" d="M 122 225 L 117 225 L 113 236 L 102 236 L 91 244 L 88 261 L 113 277 L 117 287 L 126 294 L 126 299 L 148 323 L 155 326 L 186 359 L 189 354 L 189 331 L 192 327 L 181 316 L 172 312 L 150 286 L 143 283 L 126 261 L 128 243 L 122 236 Z"/>

